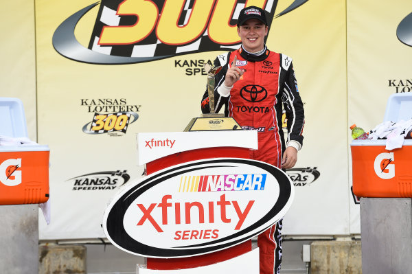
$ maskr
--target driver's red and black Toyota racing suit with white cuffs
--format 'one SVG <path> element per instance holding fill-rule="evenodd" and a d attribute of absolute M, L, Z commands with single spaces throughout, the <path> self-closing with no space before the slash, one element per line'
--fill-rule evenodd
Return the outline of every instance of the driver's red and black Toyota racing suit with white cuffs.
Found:
<path fill-rule="evenodd" d="M 222 86 L 227 69 L 237 56 L 236 66 L 244 69 L 230 91 Z M 292 59 L 271 52 L 264 46 L 260 55 L 250 54 L 243 47 L 222 54 L 214 60 L 222 69 L 215 76 L 216 113 L 224 106 L 225 116 L 233 117 L 243 129 L 258 130 L 258 150 L 250 158 L 281 168 L 282 152 L 287 146 L 301 148 L 304 137 L 304 106 L 299 96 Z M 221 94 L 222 93 L 222 94 Z M 282 129 L 282 108 L 287 119 L 287 141 Z M 207 91 L 201 109 L 209 113 Z M 279 273 L 282 262 L 282 220 L 258 236 L 260 273 Z"/>

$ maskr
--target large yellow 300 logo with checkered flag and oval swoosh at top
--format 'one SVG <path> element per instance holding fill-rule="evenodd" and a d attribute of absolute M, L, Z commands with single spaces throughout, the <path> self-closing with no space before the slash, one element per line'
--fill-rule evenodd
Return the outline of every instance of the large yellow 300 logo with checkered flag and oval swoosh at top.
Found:
<path fill-rule="evenodd" d="M 283 16 L 308 0 L 295 0 Z M 277 0 L 254 2 L 268 12 L 270 30 Z M 76 25 L 98 7 L 88 47 L 74 35 Z M 80 8 L 80 7 L 79 7 Z M 150 62 L 197 52 L 238 47 L 238 12 L 244 1 L 102 0 L 69 16 L 54 32 L 54 49 L 71 60 L 100 65 Z M 270 32 L 269 32 L 270 33 Z M 265 41 L 267 36 L 265 37 Z M 193 68 L 187 73 L 203 73 Z"/>

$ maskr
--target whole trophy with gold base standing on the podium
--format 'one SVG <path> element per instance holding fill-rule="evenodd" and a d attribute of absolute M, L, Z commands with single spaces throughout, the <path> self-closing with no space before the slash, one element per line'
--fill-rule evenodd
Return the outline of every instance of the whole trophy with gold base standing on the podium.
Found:
<path fill-rule="evenodd" d="M 236 64 L 236 57 L 233 61 Z M 242 127 L 233 119 L 233 117 L 225 117 L 222 113 L 215 113 L 214 102 L 214 87 L 215 75 L 222 67 L 212 67 L 205 64 L 207 71 L 207 93 L 209 95 L 210 113 L 202 114 L 202 117 L 193 118 L 186 126 L 184 131 L 203 131 L 203 130 L 241 130 Z"/>

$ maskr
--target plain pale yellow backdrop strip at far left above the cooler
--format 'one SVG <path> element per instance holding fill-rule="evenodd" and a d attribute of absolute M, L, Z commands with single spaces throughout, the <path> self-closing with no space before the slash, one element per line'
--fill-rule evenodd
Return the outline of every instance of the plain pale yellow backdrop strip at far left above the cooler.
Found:
<path fill-rule="evenodd" d="M 33 1 L 1 1 L 0 20 L 0 97 L 19 98 L 23 102 L 27 137 L 36 141 Z"/>

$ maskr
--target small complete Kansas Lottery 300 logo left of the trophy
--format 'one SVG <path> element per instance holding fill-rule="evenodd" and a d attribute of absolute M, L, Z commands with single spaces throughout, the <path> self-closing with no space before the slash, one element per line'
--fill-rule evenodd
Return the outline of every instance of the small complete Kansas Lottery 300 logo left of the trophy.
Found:
<path fill-rule="evenodd" d="M 137 112 L 141 108 L 141 105 L 127 104 L 125 98 L 81 99 L 80 102 L 81 106 L 87 107 L 87 112 L 94 112 L 92 121 L 82 128 L 87 134 L 108 133 L 110 136 L 122 136 L 126 134 L 129 124 L 136 122 L 139 117 Z"/>

